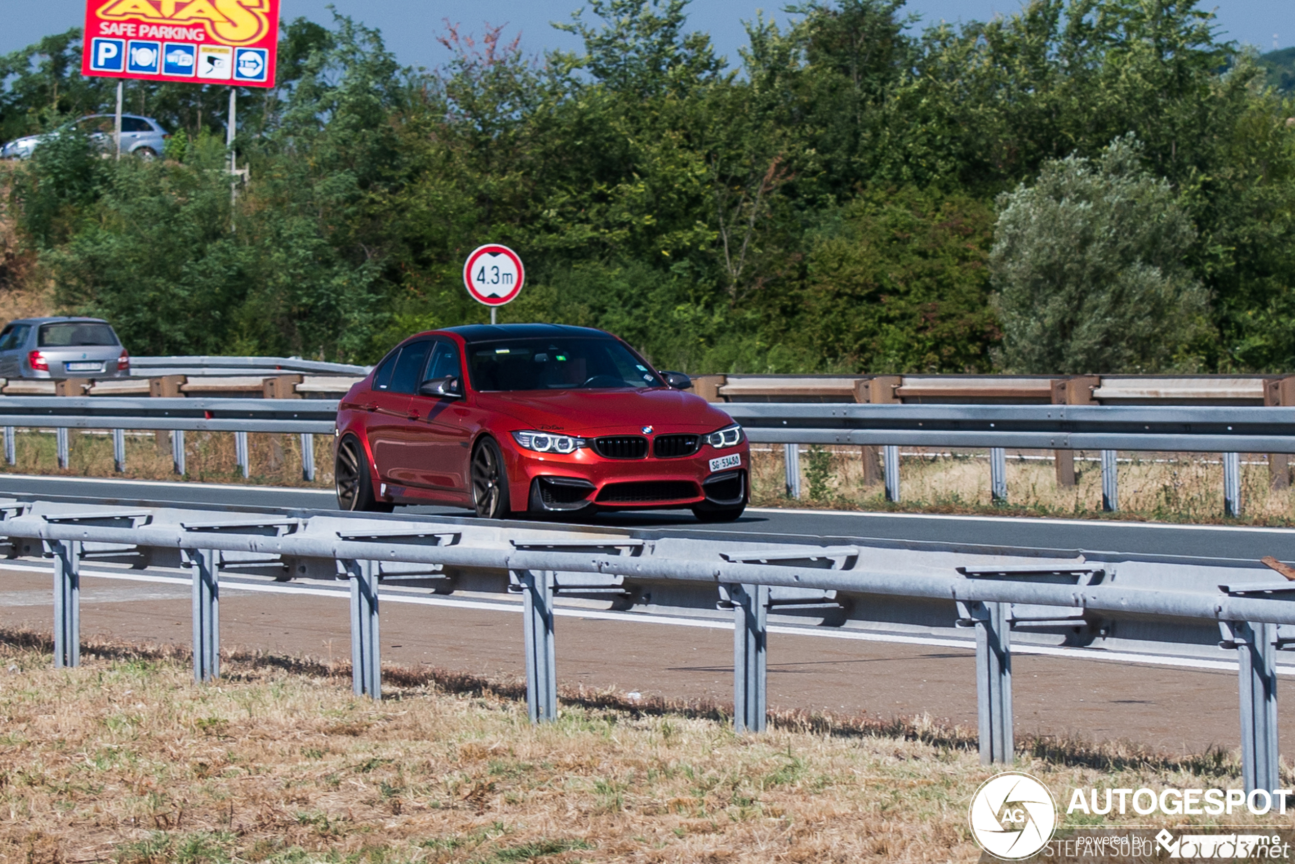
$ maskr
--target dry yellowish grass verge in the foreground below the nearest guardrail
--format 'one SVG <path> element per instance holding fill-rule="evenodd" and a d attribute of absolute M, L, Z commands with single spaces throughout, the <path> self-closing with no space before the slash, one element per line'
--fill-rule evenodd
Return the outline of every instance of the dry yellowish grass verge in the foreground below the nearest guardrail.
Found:
<path fill-rule="evenodd" d="M 170 649 L 88 644 L 83 658 L 52 670 L 43 636 L 0 632 L 0 860 L 979 856 L 966 807 L 993 771 L 960 729 L 780 715 L 739 737 L 715 706 L 579 692 L 532 727 L 515 681 L 392 668 L 372 703 L 344 667 L 310 659 L 232 657 L 198 687 Z M 1232 755 L 1123 745 L 1027 742 L 1018 768 L 1063 799 L 1238 785 Z"/>

